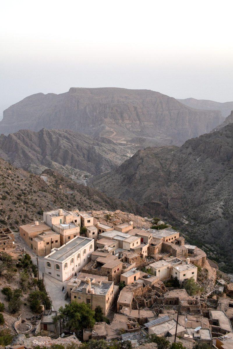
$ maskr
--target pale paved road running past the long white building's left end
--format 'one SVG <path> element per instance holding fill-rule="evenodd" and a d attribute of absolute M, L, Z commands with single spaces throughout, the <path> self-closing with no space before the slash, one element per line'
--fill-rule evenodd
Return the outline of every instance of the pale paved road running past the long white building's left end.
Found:
<path fill-rule="evenodd" d="M 15 240 L 16 242 L 25 248 L 25 252 L 30 254 L 31 259 L 34 264 L 37 265 L 37 255 L 29 248 L 29 246 L 24 242 L 23 239 L 19 236 L 19 232 L 15 233 Z M 42 273 L 44 273 L 44 257 L 38 257 L 38 265 L 39 265 L 39 277 L 42 279 Z M 54 279 L 53 277 L 50 277 L 49 275 L 44 273 L 44 284 L 46 287 L 46 290 L 52 300 L 52 308 L 53 310 L 58 310 L 60 306 L 64 306 L 65 304 L 68 304 L 67 300 L 64 299 L 64 293 L 62 292 L 62 287 L 65 287 L 66 290 L 66 284 L 67 281 L 61 282 L 59 280 Z"/>

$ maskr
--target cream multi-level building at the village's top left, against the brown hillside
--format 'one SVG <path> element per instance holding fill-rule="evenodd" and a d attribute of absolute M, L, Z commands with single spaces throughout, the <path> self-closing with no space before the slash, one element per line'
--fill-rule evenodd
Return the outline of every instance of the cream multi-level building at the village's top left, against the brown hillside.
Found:
<path fill-rule="evenodd" d="M 43 213 L 44 223 L 49 225 L 53 230 L 53 225 L 58 224 L 81 224 L 81 218 L 78 210 L 66 211 L 63 208 Z"/>

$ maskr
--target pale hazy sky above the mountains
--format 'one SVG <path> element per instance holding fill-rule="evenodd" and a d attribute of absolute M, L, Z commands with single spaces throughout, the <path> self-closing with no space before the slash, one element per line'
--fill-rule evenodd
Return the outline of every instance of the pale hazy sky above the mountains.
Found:
<path fill-rule="evenodd" d="M 70 87 L 233 101 L 232 1 L 2 0 L 1 111 Z"/>

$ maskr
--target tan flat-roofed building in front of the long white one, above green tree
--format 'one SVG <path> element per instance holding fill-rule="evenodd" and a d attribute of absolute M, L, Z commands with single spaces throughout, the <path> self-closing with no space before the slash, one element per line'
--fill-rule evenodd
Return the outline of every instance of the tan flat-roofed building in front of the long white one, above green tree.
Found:
<path fill-rule="evenodd" d="M 101 306 L 103 314 L 107 315 L 111 309 L 114 289 L 112 281 L 99 281 L 87 277 L 85 280 L 78 280 L 77 285 L 71 290 L 71 302 L 90 304 L 92 310 Z"/>

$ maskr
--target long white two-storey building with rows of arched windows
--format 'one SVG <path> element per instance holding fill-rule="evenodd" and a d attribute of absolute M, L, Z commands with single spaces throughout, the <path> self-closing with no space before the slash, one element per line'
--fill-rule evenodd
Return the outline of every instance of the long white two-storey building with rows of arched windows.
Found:
<path fill-rule="evenodd" d="M 45 273 L 62 282 L 78 274 L 90 261 L 94 240 L 77 236 L 66 245 L 52 249 L 44 258 Z"/>

